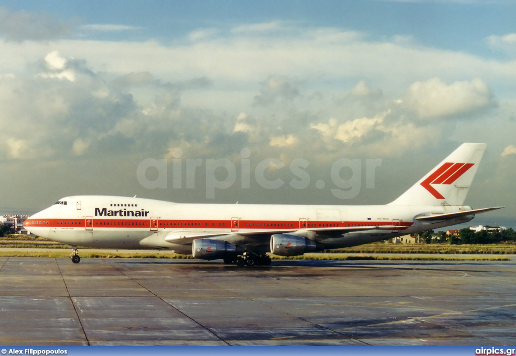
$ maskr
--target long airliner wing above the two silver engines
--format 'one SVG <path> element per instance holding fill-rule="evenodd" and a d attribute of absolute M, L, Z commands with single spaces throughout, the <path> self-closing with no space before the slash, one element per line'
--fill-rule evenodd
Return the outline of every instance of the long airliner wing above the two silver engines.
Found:
<path fill-rule="evenodd" d="M 224 241 L 238 243 L 241 240 L 260 240 L 264 237 L 270 238 L 271 235 L 274 234 L 282 234 L 282 233 L 293 233 L 296 232 L 299 235 L 303 235 L 303 232 L 313 231 L 316 233 L 320 233 L 326 236 L 338 236 L 343 235 L 347 232 L 356 232 L 356 231 L 366 231 L 366 230 L 378 230 L 378 229 L 393 229 L 399 227 L 393 227 L 392 225 L 378 225 L 378 226 L 349 226 L 349 227 L 319 227 L 319 228 L 305 228 L 298 230 L 259 230 L 259 231 L 233 231 L 233 232 L 205 232 L 199 233 L 199 231 L 171 231 L 165 236 L 165 241 L 178 244 L 178 245 L 188 245 L 191 244 L 193 240 L 196 239 L 207 239 L 213 238 L 217 240 L 219 236 L 224 236 Z"/>

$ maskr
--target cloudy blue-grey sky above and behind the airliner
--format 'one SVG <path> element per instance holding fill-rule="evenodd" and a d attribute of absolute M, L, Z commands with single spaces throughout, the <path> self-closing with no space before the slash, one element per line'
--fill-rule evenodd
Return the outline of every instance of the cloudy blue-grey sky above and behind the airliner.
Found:
<path fill-rule="evenodd" d="M 3 1 L 0 211 L 386 204 L 463 142 L 514 224 L 516 3 Z"/>

